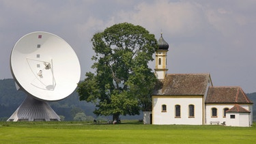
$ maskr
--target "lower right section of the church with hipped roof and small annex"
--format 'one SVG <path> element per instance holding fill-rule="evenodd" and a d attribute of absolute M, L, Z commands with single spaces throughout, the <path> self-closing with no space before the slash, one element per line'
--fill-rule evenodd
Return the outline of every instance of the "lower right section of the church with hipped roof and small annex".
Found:
<path fill-rule="evenodd" d="M 206 124 L 212 121 L 224 122 L 227 126 L 253 124 L 253 102 L 241 87 L 210 87 L 205 105 Z"/>

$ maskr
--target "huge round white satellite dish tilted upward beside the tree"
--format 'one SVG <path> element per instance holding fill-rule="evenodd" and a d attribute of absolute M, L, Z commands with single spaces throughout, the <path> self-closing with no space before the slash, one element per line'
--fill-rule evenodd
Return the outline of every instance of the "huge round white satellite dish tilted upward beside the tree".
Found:
<path fill-rule="evenodd" d="M 16 42 L 10 67 L 17 87 L 35 99 L 27 98 L 30 103 L 66 98 L 76 89 L 81 76 L 72 47 L 59 36 L 43 31 L 24 35 Z"/>

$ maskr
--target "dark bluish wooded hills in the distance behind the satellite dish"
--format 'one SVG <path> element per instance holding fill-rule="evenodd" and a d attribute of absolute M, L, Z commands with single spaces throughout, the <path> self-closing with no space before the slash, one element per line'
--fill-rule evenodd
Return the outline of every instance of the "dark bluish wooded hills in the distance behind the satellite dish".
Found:
<path fill-rule="evenodd" d="M 16 90 L 14 79 L 0 80 L 0 121 L 6 121 L 25 98 L 26 93 Z M 48 102 L 48 104 L 65 121 L 93 121 L 94 119 L 107 121 L 112 119 L 111 116 L 97 117 L 94 115 L 93 111 L 96 106 L 91 102 L 80 101 L 76 91 L 63 100 Z M 143 116 L 121 116 L 121 119 L 143 119 Z"/>

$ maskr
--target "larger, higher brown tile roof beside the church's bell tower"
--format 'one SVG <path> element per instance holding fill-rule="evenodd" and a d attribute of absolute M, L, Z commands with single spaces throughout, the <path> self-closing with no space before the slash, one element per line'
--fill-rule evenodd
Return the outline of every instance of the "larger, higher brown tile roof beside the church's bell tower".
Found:
<path fill-rule="evenodd" d="M 210 74 L 167 74 L 161 83 L 154 95 L 195 96 L 204 95 L 212 81 Z"/>

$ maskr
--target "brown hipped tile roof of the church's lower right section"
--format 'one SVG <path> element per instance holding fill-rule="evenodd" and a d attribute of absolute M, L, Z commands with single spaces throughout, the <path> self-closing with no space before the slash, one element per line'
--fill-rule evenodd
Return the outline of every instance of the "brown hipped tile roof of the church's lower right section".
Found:
<path fill-rule="evenodd" d="M 209 87 L 205 103 L 253 104 L 241 87 Z"/>

